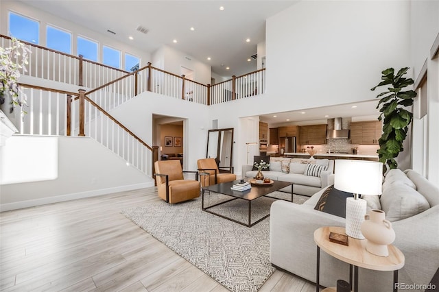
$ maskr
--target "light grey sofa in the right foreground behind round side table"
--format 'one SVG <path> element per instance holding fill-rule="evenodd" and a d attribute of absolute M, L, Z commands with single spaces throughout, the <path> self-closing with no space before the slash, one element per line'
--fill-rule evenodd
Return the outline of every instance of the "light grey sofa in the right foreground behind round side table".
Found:
<path fill-rule="evenodd" d="M 315 210 L 325 189 L 302 205 L 278 200 L 270 212 L 272 265 L 311 282 L 316 282 L 313 232 L 323 226 L 345 226 L 344 218 Z M 367 197 L 368 208 L 381 205 L 386 219 L 392 221 L 393 244 L 405 256 L 399 283 L 414 285 L 409 291 L 424 291 L 422 285 L 430 282 L 439 267 L 439 189 L 416 171 L 392 169 L 385 176 L 381 197 Z M 348 281 L 348 276 L 348 264 L 320 253 L 322 286 L 335 287 L 337 280 Z M 392 291 L 392 280 L 392 271 L 359 269 L 359 291 Z"/>

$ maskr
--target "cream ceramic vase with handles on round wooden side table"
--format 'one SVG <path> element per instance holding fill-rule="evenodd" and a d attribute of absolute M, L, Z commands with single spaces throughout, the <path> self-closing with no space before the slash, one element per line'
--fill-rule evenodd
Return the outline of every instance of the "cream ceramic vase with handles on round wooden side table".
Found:
<path fill-rule="evenodd" d="M 395 240 L 392 223 L 385 219 L 383 210 L 370 210 L 361 223 L 361 233 L 367 239 L 366 250 L 377 256 L 388 256 L 388 245 Z"/>

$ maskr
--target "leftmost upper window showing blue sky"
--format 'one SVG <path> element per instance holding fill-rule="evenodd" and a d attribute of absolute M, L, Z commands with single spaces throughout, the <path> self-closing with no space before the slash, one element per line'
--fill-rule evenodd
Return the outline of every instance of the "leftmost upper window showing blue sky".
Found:
<path fill-rule="evenodd" d="M 9 12 L 9 34 L 19 40 L 38 45 L 40 42 L 40 23 L 29 19 L 29 17 Z"/>

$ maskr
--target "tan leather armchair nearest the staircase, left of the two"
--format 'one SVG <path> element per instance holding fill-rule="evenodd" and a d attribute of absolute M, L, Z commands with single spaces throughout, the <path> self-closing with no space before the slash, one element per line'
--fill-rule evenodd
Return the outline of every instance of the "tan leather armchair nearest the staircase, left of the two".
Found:
<path fill-rule="evenodd" d="M 158 197 L 167 203 L 174 204 L 200 197 L 197 171 L 182 171 L 178 160 L 157 160 L 154 167 Z M 185 180 L 183 173 L 195 173 L 195 180 Z"/>

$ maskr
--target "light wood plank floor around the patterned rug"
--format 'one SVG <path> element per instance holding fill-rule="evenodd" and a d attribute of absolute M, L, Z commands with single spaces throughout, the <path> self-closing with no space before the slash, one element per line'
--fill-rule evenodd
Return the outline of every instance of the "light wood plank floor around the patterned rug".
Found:
<path fill-rule="evenodd" d="M 0 213 L 1 291 L 228 291 L 125 216 L 154 188 Z M 315 287 L 275 271 L 266 291 Z"/>

